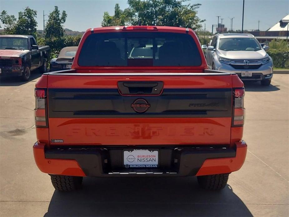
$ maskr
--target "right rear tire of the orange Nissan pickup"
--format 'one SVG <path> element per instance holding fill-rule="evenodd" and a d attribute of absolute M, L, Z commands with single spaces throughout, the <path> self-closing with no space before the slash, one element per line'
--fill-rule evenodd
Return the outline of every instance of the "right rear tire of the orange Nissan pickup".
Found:
<path fill-rule="evenodd" d="M 228 173 L 197 176 L 199 186 L 207 190 L 220 190 L 225 188 L 228 178 Z"/>

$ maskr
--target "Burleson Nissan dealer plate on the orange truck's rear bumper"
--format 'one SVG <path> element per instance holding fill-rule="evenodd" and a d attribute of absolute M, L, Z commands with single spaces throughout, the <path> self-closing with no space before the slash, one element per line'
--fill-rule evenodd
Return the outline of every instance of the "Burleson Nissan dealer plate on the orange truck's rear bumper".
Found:
<path fill-rule="evenodd" d="M 157 168 L 158 151 L 147 149 L 134 149 L 123 151 L 123 165 L 125 168 Z"/>

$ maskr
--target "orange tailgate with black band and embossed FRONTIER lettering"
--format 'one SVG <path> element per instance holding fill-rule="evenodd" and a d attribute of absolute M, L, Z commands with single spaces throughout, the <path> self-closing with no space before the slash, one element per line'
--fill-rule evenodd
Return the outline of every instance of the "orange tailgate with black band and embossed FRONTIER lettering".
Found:
<path fill-rule="evenodd" d="M 47 87 L 51 144 L 230 143 L 231 74 L 51 73 Z"/>

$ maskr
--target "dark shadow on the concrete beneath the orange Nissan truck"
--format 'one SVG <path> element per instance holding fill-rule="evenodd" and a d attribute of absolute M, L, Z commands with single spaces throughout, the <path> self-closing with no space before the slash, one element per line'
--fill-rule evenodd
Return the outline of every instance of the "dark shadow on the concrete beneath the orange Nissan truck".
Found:
<path fill-rule="evenodd" d="M 54 191 L 48 216 L 252 216 L 227 185 L 198 188 L 195 177 L 84 178 L 74 192 Z"/>

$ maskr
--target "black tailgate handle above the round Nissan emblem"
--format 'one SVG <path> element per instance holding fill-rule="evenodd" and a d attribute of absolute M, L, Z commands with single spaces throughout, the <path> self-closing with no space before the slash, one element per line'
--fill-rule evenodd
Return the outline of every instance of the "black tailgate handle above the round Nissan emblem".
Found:
<path fill-rule="evenodd" d="M 162 81 L 154 82 L 117 82 L 117 87 L 122 95 L 159 95 L 162 92 L 164 83 Z"/>

